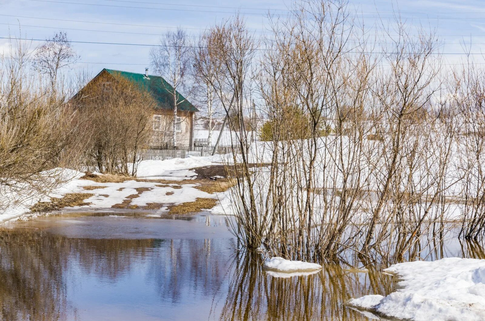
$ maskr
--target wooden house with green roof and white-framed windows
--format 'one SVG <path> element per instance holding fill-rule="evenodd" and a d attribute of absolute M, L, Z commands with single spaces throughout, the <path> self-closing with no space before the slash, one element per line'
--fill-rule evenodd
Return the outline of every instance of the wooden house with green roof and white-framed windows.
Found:
<path fill-rule="evenodd" d="M 90 83 L 99 82 L 103 88 L 107 87 L 108 90 L 110 84 L 116 81 L 117 77 L 123 77 L 130 81 L 143 92 L 153 96 L 157 102 L 157 107 L 153 110 L 152 138 L 149 147 L 157 149 L 173 148 L 174 101 L 171 94 L 172 85 L 160 76 L 148 75 L 148 70 L 145 74 L 138 74 L 106 68 L 101 70 Z M 178 104 L 176 121 L 177 148 L 192 149 L 194 145 L 194 113 L 198 110 L 180 94 L 178 94 L 178 101 L 180 103 Z"/>

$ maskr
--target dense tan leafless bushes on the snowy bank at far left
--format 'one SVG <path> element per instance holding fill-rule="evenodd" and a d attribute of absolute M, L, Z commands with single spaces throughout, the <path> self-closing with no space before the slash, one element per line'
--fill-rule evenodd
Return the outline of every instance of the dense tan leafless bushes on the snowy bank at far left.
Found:
<path fill-rule="evenodd" d="M 71 179 L 59 167 L 76 168 L 78 155 L 69 148 L 75 130 L 65 96 L 29 73 L 25 44 L 15 47 L 15 59 L 0 61 L 0 213 Z"/>

